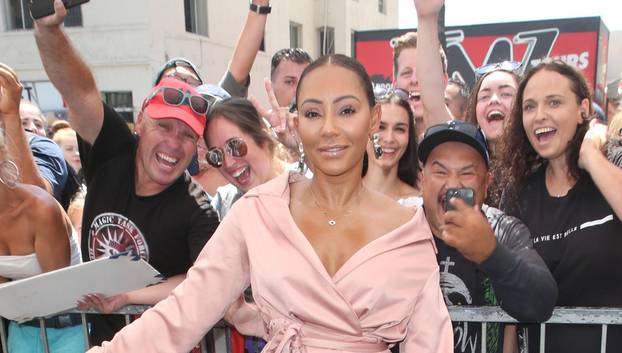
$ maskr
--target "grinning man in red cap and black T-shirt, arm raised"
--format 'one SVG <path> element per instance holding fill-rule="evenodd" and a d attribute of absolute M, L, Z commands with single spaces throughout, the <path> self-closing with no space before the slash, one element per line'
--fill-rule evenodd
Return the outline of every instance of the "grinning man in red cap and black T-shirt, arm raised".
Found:
<path fill-rule="evenodd" d="M 86 296 L 83 307 L 111 312 L 126 304 L 155 304 L 183 280 L 218 226 L 209 197 L 185 172 L 203 134 L 209 102 L 194 87 L 165 78 L 145 98 L 134 136 L 103 104 L 89 68 L 61 29 L 56 13 L 35 23 L 35 38 L 52 83 L 79 135 L 88 193 L 82 257 L 91 261 L 130 251 L 166 276 L 162 284 L 113 297 Z M 114 278 L 102 278 L 114 281 Z M 121 320 L 118 320 L 121 319 Z M 112 338 L 123 317 L 89 318 L 91 343 Z"/>

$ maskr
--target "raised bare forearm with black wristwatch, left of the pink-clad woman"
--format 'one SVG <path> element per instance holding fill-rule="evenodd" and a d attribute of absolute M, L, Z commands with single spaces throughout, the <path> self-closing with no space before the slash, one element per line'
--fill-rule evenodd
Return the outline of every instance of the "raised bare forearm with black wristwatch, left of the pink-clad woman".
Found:
<path fill-rule="evenodd" d="M 267 6 L 270 5 L 270 0 L 253 0 L 252 3 Z M 240 33 L 229 62 L 229 72 L 240 84 L 244 84 L 248 80 L 248 74 L 253 67 L 263 40 L 267 18 L 268 15 L 258 14 L 250 10 L 246 16 L 242 33 Z"/>

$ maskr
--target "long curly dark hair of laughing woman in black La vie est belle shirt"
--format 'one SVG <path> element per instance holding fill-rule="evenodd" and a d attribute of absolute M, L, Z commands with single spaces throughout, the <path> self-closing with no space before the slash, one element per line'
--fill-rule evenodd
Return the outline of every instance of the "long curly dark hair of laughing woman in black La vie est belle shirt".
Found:
<path fill-rule="evenodd" d="M 564 76 L 570 81 L 570 89 L 575 94 L 577 103 L 581 104 L 584 99 L 588 99 L 590 102 L 589 114 L 586 113 L 583 122 L 577 125 L 577 130 L 566 149 L 566 162 L 570 176 L 578 180 L 584 173 L 579 168 L 579 149 L 592 116 L 592 93 L 581 72 L 573 66 L 560 60 L 540 63 L 532 68 L 519 84 L 514 107 L 503 136 L 499 167 L 501 168 L 501 185 L 507 187 L 505 201 L 511 208 L 516 207 L 518 193 L 527 179 L 546 164 L 546 160 L 540 157 L 531 146 L 523 126 L 525 87 L 529 80 L 540 71 L 557 72 Z"/>

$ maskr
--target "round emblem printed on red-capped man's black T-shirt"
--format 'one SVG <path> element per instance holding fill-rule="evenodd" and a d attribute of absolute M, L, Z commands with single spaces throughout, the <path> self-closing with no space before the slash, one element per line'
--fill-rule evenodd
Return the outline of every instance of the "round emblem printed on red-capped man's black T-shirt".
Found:
<path fill-rule="evenodd" d="M 131 252 L 149 261 L 149 248 L 138 227 L 117 213 L 102 213 L 89 227 L 89 259 L 95 260 L 122 252 Z"/>

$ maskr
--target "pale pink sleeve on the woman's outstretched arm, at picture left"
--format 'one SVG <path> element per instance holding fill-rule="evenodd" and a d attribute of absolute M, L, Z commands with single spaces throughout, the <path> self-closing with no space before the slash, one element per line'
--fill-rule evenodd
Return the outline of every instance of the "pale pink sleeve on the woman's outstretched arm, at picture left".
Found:
<path fill-rule="evenodd" d="M 89 352 L 189 352 L 249 285 L 240 208 L 232 208 L 168 298 Z"/>

